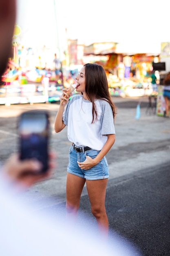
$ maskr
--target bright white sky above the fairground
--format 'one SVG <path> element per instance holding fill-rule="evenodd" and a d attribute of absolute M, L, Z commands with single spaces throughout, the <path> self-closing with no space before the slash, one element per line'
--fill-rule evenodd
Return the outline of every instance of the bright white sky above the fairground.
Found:
<path fill-rule="evenodd" d="M 170 42 L 167 0 L 17 0 L 18 41 L 29 47 L 66 48 L 116 42 L 155 47 Z"/>

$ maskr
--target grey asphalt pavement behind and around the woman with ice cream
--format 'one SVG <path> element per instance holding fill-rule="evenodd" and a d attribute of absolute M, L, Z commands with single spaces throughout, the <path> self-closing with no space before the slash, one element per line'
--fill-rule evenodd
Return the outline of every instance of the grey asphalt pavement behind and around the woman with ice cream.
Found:
<path fill-rule="evenodd" d="M 116 232 L 146 256 L 170 255 L 170 119 L 147 112 L 148 97 L 113 97 L 117 105 L 116 141 L 106 155 L 110 177 L 106 211 L 110 234 Z M 136 118 L 140 103 L 140 117 Z M 20 112 L 48 109 L 51 114 L 51 148 L 57 153 L 53 177 L 26 191 L 24 197 L 38 211 L 65 211 L 68 149 L 66 128 L 53 131 L 59 103 L 0 106 L 0 161 L 17 151 L 16 122 Z M 38 202 L 38 204 L 37 204 Z M 36 208 L 36 207 L 35 207 Z M 80 212 L 95 225 L 84 187 Z"/>

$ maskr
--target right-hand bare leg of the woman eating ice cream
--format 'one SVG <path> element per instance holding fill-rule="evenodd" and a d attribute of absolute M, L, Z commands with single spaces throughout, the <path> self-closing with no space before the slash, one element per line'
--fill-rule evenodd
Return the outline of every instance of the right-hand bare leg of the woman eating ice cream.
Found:
<path fill-rule="evenodd" d="M 97 220 L 99 232 L 108 237 L 108 217 L 105 208 L 106 186 L 108 179 L 86 180 L 91 211 Z"/>

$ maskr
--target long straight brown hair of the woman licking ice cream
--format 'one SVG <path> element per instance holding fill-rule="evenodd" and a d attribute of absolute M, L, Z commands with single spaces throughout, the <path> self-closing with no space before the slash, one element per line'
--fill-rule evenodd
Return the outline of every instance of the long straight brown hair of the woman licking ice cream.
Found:
<path fill-rule="evenodd" d="M 86 95 L 92 102 L 92 123 L 97 120 L 97 110 L 95 106 L 95 99 L 103 99 L 107 101 L 113 111 L 113 117 L 116 115 L 116 106 L 113 103 L 109 91 L 108 81 L 104 68 L 99 64 L 87 63 L 84 65 L 85 68 L 85 79 L 86 79 Z"/>

